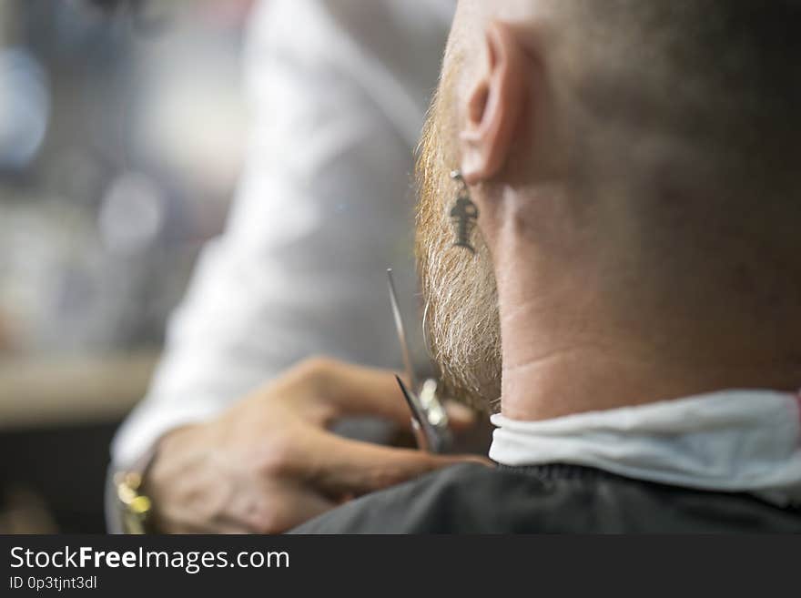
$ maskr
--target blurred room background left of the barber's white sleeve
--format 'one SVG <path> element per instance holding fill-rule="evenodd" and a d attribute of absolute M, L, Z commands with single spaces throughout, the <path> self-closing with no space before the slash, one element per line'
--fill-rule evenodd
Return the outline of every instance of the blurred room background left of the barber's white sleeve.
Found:
<path fill-rule="evenodd" d="M 238 178 L 250 5 L 0 2 L 0 532 L 105 529 L 108 443 Z"/>

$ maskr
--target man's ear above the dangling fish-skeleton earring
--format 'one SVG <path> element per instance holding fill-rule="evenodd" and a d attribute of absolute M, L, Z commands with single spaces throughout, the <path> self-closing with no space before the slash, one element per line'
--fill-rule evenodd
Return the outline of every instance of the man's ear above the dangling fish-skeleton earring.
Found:
<path fill-rule="evenodd" d="M 494 177 L 506 163 L 520 130 L 526 81 L 525 51 L 510 25 L 493 21 L 486 31 L 487 65 L 478 70 L 461 106 L 461 175 L 468 184 Z"/>

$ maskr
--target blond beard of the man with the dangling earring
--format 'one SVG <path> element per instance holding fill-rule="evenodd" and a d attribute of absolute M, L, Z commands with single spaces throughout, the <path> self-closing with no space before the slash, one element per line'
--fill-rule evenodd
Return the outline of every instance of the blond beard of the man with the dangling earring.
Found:
<path fill-rule="evenodd" d="M 416 167 L 415 256 L 426 302 L 423 327 L 444 396 L 494 411 L 501 394 L 501 327 L 492 257 L 477 228 L 475 253 L 453 247 L 449 212 L 459 187 L 450 177 L 458 164 L 448 111 L 454 106 L 451 80 L 446 72 L 423 129 Z"/>

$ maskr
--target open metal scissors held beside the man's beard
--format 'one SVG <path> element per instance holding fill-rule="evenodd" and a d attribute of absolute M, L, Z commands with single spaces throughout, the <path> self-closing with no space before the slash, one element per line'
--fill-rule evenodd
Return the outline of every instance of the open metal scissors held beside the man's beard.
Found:
<path fill-rule="evenodd" d="M 418 379 L 411 364 L 406 330 L 403 327 L 403 319 L 400 317 L 398 293 L 395 290 L 395 281 L 392 279 L 392 269 L 387 269 L 387 279 L 390 285 L 392 315 L 395 318 L 395 329 L 400 341 L 406 380 L 409 381 L 411 388 L 406 386 L 400 376 L 395 376 L 395 380 L 398 380 L 400 391 L 411 411 L 411 430 L 414 432 L 414 439 L 421 451 L 446 452 L 451 447 L 452 441 L 451 430 L 448 427 L 448 412 L 437 396 L 437 380 L 427 378 L 421 385 L 418 385 Z"/>

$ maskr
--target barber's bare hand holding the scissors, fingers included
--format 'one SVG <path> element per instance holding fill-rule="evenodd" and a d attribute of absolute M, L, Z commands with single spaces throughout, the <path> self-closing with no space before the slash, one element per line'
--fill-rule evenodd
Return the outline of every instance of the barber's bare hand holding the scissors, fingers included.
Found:
<path fill-rule="evenodd" d="M 392 373 L 308 360 L 217 420 L 158 444 L 145 488 L 160 532 L 283 532 L 354 496 L 471 456 L 437 456 L 341 438 L 345 415 L 409 427 Z M 482 461 L 485 462 L 485 461 Z"/>

